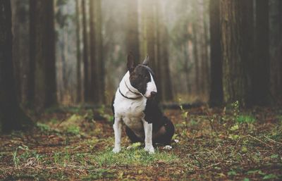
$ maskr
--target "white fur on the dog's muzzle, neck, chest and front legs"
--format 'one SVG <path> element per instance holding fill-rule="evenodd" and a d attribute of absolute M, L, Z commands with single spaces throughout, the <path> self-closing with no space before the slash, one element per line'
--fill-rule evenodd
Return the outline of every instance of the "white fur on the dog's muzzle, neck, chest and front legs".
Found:
<path fill-rule="evenodd" d="M 129 80 L 129 72 L 127 72 L 123 79 L 119 84 L 119 89 L 123 93 L 124 96 L 135 98 L 138 95 L 133 94 L 133 92 L 138 92 L 132 85 L 130 85 Z M 128 89 L 126 85 L 128 86 Z M 148 91 L 149 90 L 149 91 Z M 154 83 L 154 79 L 151 75 L 151 82 L 147 83 L 147 92 L 151 93 L 152 91 L 157 92 L 157 87 Z M 146 94 L 147 94 L 146 92 Z M 127 125 L 130 130 L 133 130 L 137 137 L 144 137 L 143 129 L 145 130 L 145 150 L 149 151 L 150 154 L 154 153 L 154 147 L 152 145 L 152 123 L 149 124 L 144 120 L 145 114 L 143 111 L 145 110 L 146 101 L 149 96 L 142 96 L 140 94 L 140 99 L 127 99 L 121 95 L 121 93 L 116 91 L 116 98 L 114 100 L 114 132 L 115 132 L 115 145 L 114 145 L 114 153 L 118 153 L 121 151 L 121 121 Z"/>

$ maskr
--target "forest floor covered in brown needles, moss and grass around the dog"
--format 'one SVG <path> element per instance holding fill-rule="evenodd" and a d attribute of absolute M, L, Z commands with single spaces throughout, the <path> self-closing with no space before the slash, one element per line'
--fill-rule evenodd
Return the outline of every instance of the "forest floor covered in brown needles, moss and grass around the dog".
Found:
<path fill-rule="evenodd" d="M 46 111 L 29 132 L 0 136 L 0 180 L 282 180 L 282 109 L 165 110 L 171 150 L 113 154 L 108 108 Z"/>

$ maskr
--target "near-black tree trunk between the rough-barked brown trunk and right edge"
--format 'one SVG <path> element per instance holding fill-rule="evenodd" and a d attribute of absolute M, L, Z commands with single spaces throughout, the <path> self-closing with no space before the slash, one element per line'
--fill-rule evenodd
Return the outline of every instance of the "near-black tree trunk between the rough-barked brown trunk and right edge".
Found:
<path fill-rule="evenodd" d="M 256 1 L 256 58 L 252 75 L 252 104 L 269 104 L 269 1 Z"/>

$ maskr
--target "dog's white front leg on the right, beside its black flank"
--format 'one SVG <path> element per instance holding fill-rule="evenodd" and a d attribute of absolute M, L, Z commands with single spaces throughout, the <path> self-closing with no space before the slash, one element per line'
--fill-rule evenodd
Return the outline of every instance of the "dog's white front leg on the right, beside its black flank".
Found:
<path fill-rule="evenodd" d="M 153 132 L 153 124 L 148 123 L 146 120 L 142 120 L 144 130 L 145 130 L 145 151 L 148 151 L 149 154 L 154 154 L 154 146 L 152 143 L 152 132 Z"/>

